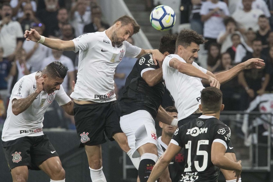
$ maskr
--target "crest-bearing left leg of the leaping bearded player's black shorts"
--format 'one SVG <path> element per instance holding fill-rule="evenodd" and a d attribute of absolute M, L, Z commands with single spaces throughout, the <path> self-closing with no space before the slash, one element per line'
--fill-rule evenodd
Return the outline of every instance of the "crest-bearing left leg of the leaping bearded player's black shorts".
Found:
<path fill-rule="evenodd" d="M 104 129 L 105 113 L 108 105 L 108 103 L 74 103 L 75 126 L 81 141 L 80 147 L 84 147 L 84 145 L 100 145 L 106 142 Z"/>

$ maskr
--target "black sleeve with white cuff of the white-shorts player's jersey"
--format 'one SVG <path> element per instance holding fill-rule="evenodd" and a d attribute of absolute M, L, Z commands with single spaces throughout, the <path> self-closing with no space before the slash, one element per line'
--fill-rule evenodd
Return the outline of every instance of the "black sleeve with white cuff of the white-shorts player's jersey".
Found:
<path fill-rule="evenodd" d="M 157 69 L 157 66 L 153 62 L 153 55 L 149 53 L 142 55 L 138 59 L 137 65 L 141 77 L 145 71 Z"/>

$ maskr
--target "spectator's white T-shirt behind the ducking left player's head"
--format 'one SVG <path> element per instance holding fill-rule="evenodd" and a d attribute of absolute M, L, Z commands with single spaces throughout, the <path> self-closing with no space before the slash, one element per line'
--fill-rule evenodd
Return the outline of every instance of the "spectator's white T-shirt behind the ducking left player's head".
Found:
<path fill-rule="evenodd" d="M 41 70 L 43 70 L 48 64 L 50 64 L 50 63 L 52 63 L 54 61 L 58 61 L 58 62 L 61 62 L 62 64 L 64 64 L 64 66 L 66 66 L 68 68 L 67 73 L 75 71 L 72 60 L 69 57 L 64 56 L 64 55 L 61 55 L 61 57 L 58 60 L 56 60 L 53 55 L 51 55 L 49 57 L 46 57 L 43 60 Z M 72 80 L 71 80 L 71 82 L 72 82 Z M 62 83 L 62 86 L 63 86 L 65 92 L 67 92 L 69 90 L 68 74 L 65 76 L 64 82 Z"/>

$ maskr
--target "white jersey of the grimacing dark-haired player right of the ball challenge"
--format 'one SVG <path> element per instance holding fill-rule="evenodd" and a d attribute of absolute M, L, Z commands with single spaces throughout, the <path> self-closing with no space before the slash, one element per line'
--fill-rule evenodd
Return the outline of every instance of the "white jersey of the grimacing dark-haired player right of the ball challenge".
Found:
<path fill-rule="evenodd" d="M 162 64 L 163 79 L 175 101 L 175 106 L 178 110 L 178 120 L 181 120 L 198 109 L 201 96 L 200 91 L 205 87 L 203 87 L 201 83 L 202 79 L 188 76 L 170 67 L 169 62 L 173 58 L 177 58 L 181 62 L 186 63 L 185 60 L 176 54 L 165 57 Z M 195 62 L 193 62 L 192 65 L 204 73 L 207 73 L 206 69 L 198 66 Z"/>

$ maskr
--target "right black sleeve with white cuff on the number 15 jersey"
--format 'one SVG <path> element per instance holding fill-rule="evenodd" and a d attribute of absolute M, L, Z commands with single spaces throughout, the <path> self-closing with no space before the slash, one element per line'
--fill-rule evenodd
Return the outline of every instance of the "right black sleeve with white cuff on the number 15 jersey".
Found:
<path fill-rule="evenodd" d="M 227 148 L 227 144 L 230 141 L 231 137 L 231 131 L 227 125 L 224 123 L 217 123 L 214 127 L 214 141 L 218 141 L 220 143 L 223 143 L 225 147 Z M 221 141 L 222 140 L 222 141 Z"/>

